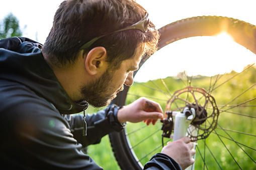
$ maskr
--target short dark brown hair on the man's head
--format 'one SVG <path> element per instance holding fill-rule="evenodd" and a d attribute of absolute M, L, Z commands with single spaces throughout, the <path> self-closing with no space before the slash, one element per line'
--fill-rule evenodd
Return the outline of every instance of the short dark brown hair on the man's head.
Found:
<path fill-rule="evenodd" d="M 72 64 L 79 48 L 95 37 L 111 33 L 140 21 L 146 10 L 133 0 L 67 0 L 55 13 L 52 29 L 43 46 L 43 52 L 55 65 Z M 120 66 L 123 60 L 134 57 L 139 46 L 145 53 L 157 49 L 159 34 L 150 22 L 146 33 L 126 30 L 97 40 L 84 54 L 94 47 L 107 50 L 107 61 Z"/>

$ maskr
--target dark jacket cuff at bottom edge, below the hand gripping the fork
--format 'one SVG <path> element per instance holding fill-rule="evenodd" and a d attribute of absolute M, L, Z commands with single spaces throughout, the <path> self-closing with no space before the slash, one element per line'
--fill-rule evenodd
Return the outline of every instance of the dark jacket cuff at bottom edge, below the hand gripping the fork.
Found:
<path fill-rule="evenodd" d="M 157 153 L 145 164 L 147 170 L 182 170 L 181 166 L 171 157 L 164 153 Z"/>

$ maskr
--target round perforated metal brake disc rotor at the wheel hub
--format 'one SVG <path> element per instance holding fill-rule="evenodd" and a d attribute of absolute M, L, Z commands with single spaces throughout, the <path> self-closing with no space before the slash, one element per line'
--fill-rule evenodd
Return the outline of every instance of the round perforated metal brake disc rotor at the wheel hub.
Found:
<path fill-rule="evenodd" d="M 194 108 L 196 111 L 196 116 L 191 125 L 195 127 L 193 129 L 197 130 L 197 133 L 195 135 L 193 131 L 188 130 L 191 141 L 207 138 L 216 128 L 219 116 L 219 109 L 214 97 L 204 88 L 188 86 L 177 90 L 172 98 L 167 101 L 165 113 L 183 112 L 185 107 Z"/>

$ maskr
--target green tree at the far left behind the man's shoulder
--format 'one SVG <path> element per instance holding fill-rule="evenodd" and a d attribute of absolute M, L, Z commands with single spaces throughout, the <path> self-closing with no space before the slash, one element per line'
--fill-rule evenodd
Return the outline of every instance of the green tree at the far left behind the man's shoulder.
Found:
<path fill-rule="evenodd" d="M 10 13 L 0 23 L 0 40 L 9 37 L 21 37 L 22 31 L 19 26 L 19 20 Z"/>

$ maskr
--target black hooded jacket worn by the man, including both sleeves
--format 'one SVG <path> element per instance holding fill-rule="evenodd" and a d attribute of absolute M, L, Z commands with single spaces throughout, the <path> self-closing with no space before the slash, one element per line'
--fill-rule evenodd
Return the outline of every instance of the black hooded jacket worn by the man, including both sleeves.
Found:
<path fill-rule="evenodd" d="M 0 166 L 102 169 L 81 148 L 99 143 L 104 135 L 121 131 L 122 126 L 108 107 L 87 115 L 88 135 L 82 136 L 83 115 L 70 114 L 86 109 L 88 103 L 72 102 L 44 60 L 41 47 L 27 38 L 0 41 Z M 147 166 L 170 167 L 171 160 L 157 154 Z"/>

